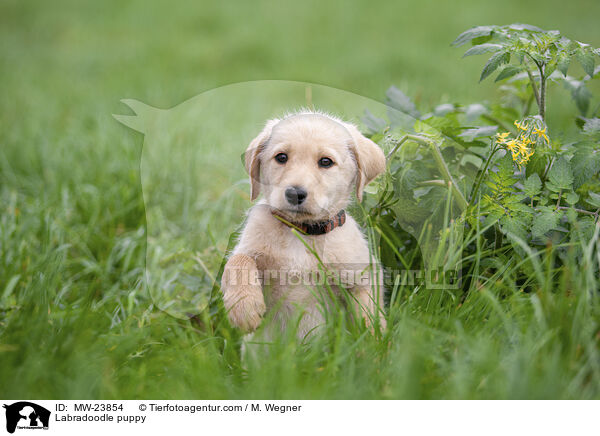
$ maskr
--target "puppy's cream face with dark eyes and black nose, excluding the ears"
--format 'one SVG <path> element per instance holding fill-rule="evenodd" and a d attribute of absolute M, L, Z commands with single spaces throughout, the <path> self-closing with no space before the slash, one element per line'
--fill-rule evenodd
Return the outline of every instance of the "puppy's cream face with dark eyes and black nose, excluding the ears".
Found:
<path fill-rule="evenodd" d="M 335 215 L 346 207 L 356 178 L 351 147 L 348 131 L 323 116 L 281 121 L 260 154 L 267 203 L 294 221 Z"/>

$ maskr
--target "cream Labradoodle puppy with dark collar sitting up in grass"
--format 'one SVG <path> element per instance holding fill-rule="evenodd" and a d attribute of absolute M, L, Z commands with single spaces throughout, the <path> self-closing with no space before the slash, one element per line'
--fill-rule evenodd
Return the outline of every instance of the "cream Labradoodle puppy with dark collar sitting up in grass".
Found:
<path fill-rule="evenodd" d="M 245 161 L 252 200 L 260 192 L 264 198 L 250 210 L 223 272 L 231 323 L 251 332 L 269 311 L 276 328 L 300 317 L 298 336 L 311 333 L 327 311 L 341 307 L 326 286 L 315 286 L 324 277 L 310 273 L 321 262 L 333 278 L 334 299 L 341 283 L 351 313 L 385 325 L 381 270 L 369 267 L 367 241 L 344 211 L 352 192 L 361 201 L 364 187 L 384 171 L 382 150 L 352 124 L 300 112 L 268 121 Z"/>

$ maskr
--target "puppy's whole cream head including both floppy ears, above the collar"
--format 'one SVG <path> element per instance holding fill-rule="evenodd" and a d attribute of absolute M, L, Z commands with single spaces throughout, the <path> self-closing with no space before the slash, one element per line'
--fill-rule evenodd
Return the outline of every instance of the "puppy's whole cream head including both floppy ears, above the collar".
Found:
<path fill-rule="evenodd" d="M 262 190 L 269 206 L 295 222 L 333 217 L 347 206 L 355 184 L 360 199 L 364 185 L 385 167 L 381 149 L 354 126 L 312 113 L 269 122 L 250 144 L 246 162 L 253 198 Z"/>

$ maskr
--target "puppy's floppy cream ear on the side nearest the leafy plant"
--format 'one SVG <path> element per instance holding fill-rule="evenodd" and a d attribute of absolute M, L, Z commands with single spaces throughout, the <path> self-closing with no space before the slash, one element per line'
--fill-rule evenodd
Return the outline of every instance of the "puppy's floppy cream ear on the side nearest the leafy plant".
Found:
<path fill-rule="evenodd" d="M 354 141 L 353 153 L 357 165 L 356 198 L 362 201 L 362 194 L 371 180 L 385 171 L 385 155 L 377 144 L 360 133 L 356 126 L 345 123 Z"/>

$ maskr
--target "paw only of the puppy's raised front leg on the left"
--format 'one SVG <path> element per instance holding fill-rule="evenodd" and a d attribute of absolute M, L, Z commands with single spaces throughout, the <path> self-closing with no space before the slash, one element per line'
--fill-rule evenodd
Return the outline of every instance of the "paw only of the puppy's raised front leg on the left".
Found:
<path fill-rule="evenodd" d="M 223 303 L 231 324 L 246 333 L 258 328 L 266 311 L 260 286 L 244 285 L 228 289 L 223 293 Z"/>

